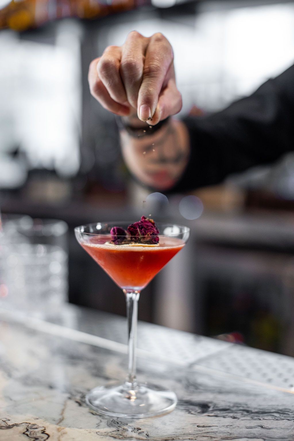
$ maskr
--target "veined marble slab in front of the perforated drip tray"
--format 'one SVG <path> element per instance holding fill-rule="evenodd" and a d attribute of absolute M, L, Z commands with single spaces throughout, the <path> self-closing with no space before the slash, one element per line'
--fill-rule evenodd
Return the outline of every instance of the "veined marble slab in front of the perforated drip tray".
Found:
<path fill-rule="evenodd" d="M 174 390 L 173 412 L 123 420 L 90 410 L 86 392 L 126 369 L 119 352 L 2 321 L 0 440 L 294 440 L 293 394 L 154 358 L 138 359 L 138 377 Z"/>

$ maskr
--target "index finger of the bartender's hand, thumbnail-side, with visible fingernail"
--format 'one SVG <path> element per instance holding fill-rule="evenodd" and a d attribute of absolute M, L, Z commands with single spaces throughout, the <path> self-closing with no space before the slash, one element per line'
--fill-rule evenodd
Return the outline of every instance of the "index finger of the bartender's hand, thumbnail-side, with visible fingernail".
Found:
<path fill-rule="evenodd" d="M 157 33 L 149 39 L 143 69 L 143 80 L 138 93 L 138 117 L 149 120 L 156 110 L 164 79 L 173 62 L 170 43 L 164 35 Z"/>

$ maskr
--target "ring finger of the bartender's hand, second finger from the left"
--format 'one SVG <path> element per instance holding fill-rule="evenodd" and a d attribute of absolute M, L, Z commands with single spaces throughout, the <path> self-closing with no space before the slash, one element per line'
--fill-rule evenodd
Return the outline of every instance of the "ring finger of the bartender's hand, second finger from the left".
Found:
<path fill-rule="evenodd" d="M 127 95 L 119 73 L 120 59 L 121 48 L 108 46 L 97 63 L 97 72 L 110 97 L 119 104 L 127 105 Z"/>

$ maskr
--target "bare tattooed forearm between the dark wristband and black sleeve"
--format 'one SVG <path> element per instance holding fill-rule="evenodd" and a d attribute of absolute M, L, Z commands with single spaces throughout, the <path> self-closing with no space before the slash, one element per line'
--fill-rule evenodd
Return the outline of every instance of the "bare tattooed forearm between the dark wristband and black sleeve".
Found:
<path fill-rule="evenodd" d="M 133 176 L 141 183 L 164 191 L 178 182 L 190 154 L 186 126 L 170 119 L 154 135 L 140 138 L 120 131 L 124 160 Z"/>

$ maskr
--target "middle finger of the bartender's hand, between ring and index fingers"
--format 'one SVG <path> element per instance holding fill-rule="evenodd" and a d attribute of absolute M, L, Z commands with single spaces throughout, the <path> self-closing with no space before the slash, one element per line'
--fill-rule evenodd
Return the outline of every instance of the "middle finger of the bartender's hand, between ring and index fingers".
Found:
<path fill-rule="evenodd" d="M 127 92 L 127 99 L 134 108 L 137 108 L 148 40 L 137 31 L 133 31 L 127 36 L 122 47 L 120 74 Z"/>

